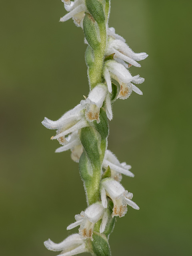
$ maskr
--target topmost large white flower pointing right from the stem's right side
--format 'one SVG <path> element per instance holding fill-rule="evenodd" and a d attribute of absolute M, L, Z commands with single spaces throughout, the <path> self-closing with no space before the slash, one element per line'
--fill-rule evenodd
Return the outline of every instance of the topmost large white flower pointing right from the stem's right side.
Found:
<path fill-rule="evenodd" d="M 122 42 L 122 40 L 119 39 L 113 39 L 109 38 L 108 39 L 108 44 L 106 47 L 106 55 L 111 55 L 114 54 L 114 59 L 117 61 L 123 60 L 121 62 L 122 64 L 124 63 L 124 66 L 127 67 L 125 62 L 130 63 L 133 66 L 140 67 L 141 65 L 136 62 L 139 60 L 144 60 L 147 58 L 148 54 L 146 52 L 140 52 L 140 53 L 135 53 L 131 50 L 131 48 L 125 43 Z"/>

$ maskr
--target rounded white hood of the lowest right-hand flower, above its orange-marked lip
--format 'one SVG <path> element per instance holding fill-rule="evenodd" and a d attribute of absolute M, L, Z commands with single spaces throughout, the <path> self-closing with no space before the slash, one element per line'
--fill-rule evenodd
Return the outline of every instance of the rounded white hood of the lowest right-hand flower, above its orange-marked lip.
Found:
<path fill-rule="evenodd" d="M 102 181 L 102 186 L 104 186 L 106 194 L 111 199 L 119 199 L 122 195 L 124 195 L 124 187 L 116 180 L 106 178 Z"/>

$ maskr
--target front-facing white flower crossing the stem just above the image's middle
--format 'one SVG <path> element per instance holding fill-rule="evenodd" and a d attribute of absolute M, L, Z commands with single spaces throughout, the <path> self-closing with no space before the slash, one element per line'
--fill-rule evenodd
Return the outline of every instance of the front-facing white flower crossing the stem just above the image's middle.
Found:
<path fill-rule="evenodd" d="M 106 114 L 109 120 L 112 119 L 112 109 L 111 109 L 111 100 L 110 95 L 108 94 L 107 87 L 105 84 L 98 84 L 90 91 L 88 98 L 86 100 L 82 100 L 81 104 L 87 104 L 85 110 L 86 119 L 89 122 L 94 120 L 97 123 L 100 122 L 99 112 L 100 108 L 103 105 L 104 100 L 106 100 Z"/>

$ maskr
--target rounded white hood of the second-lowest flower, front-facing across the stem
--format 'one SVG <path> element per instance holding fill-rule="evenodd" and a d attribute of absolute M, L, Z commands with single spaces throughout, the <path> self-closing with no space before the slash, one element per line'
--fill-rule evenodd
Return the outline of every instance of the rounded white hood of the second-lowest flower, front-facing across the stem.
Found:
<path fill-rule="evenodd" d="M 92 204 L 85 210 L 86 218 L 88 218 L 92 223 L 98 222 L 98 220 L 103 216 L 103 213 L 104 207 L 100 203 Z"/>

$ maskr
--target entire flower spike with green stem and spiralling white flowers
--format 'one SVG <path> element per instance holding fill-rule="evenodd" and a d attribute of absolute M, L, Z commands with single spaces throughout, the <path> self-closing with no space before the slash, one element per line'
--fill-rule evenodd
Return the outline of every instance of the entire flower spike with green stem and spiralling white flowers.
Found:
<path fill-rule="evenodd" d="M 79 171 L 88 207 L 75 215 L 75 222 L 67 230 L 79 227 L 77 234 L 68 236 L 59 244 L 50 239 L 44 244 L 48 250 L 62 251 L 60 256 L 90 252 L 94 256 L 110 256 L 109 236 L 115 218 L 127 212 L 127 205 L 139 210 L 132 201 L 133 194 L 120 184 L 122 174 L 134 177 L 130 165 L 120 163 L 107 149 L 112 105 L 127 99 L 132 91 L 142 95 L 135 84 L 144 82 L 139 75 L 132 76 L 129 68 L 140 67 L 138 61 L 148 55 L 135 53 L 114 28 L 108 27 L 110 0 L 62 0 L 68 13 L 60 19 L 72 18 L 81 27 L 88 44 L 85 59 L 88 68 L 90 92 L 84 100 L 66 112 L 57 121 L 45 118 L 42 124 L 56 129 L 62 145 L 56 152 L 71 150 L 71 158 L 79 163 Z"/>

